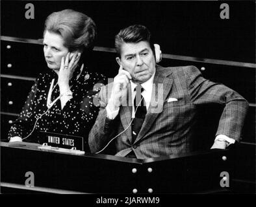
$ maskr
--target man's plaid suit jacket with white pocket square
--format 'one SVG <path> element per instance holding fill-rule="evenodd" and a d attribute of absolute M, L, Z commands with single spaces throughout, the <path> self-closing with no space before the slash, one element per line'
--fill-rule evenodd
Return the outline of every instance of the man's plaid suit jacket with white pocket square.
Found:
<path fill-rule="evenodd" d="M 114 149 L 117 156 L 125 157 L 134 151 L 137 158 L 143 159 L 190 152 L 198 106 L 207 103 L 224 105 L 216 135 L 226 135 L 238 141 L 248 110 L 248 102 L 240 94 L 225 85 L 206 80 L 194 66 L 164 68 L 157 65 L 151 103 L 140 133 L 133 142 L 131 87 L 128 87 L 114 120 L 107 118 L 105 109 L 111 90 L 112 83 L 99 92 L 100 111 L 88 138 L 92 153 L 103 149 L 120 133 L 106 148 Z"/>

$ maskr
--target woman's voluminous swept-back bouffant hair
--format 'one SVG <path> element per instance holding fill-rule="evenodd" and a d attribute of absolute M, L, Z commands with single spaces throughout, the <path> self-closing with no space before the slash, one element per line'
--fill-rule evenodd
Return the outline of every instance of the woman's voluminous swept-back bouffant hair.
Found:
<path fill-rule="evenodd" d="M 45 20 L 45 32 L 59 34 L 64 39 L 64 46 L 73 50 L 92 50 L 96 38 L 94 21 L 81 12 L 71 9 L 53 12 Z"/>

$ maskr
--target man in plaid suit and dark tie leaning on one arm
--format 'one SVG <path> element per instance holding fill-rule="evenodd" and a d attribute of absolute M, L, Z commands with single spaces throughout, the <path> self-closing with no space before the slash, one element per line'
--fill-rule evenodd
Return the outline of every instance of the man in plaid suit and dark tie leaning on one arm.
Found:
<path fill-rule="evenodd" d="M 143 159 L 190 152 L 198 107 L 207 103 L 225 106 L 212 148 L 240 139 L 248 110 L 242 96 L 206 80 L 194 66 L 156 65 L 160 51 L 142 25 L 120 30 L 115 44 L 120 70 L 99 93 L 101 109 L 89 135 L 92 153 L 114 149 L 114 155 Z"/>

